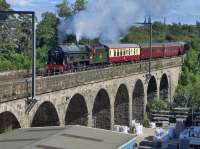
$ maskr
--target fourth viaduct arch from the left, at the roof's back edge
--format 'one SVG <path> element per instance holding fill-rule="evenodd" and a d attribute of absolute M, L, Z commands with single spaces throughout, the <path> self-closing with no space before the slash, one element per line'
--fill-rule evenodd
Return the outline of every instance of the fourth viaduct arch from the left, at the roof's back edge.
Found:
<path fill-rule="evenodd" d="M 99 90 L 96 95 L 92 119 L 95 128 L 111 129 L 111 106 L 108 93 L 105 89 Z"/>

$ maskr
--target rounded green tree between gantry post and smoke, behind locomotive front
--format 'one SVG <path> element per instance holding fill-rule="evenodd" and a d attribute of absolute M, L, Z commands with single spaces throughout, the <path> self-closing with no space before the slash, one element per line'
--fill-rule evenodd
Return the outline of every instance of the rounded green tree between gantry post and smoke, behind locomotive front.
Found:
<path fill-rule="evenodd" d="M 57 44 L 58 18 L 51 12 L 42 14 L 42 21 L 37 26 L 38 47 L 54 47 Z"/>

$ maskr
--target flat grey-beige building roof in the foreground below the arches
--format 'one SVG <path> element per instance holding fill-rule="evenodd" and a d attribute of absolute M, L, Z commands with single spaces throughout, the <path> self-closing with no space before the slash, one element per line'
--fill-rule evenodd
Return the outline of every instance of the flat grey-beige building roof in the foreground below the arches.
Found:
<path fill-rule="evenodd" d="M 69 125 L 18 129 L 0 135 L 2 149 L 116 149 L 134 136 L 108 130 Z"/>

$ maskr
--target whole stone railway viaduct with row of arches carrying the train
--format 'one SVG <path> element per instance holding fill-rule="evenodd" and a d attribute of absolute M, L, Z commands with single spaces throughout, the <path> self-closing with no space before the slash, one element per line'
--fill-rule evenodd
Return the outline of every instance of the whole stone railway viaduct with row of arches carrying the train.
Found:
<path fill-rule="evenodd" d="M 173 102 L 182 57 L 37 78 L 37 102 L 25 112 L 31 80 L 0 84 L 0 132 L 80 124 L 111 129 L 146 116 L 148 101 Z"/>

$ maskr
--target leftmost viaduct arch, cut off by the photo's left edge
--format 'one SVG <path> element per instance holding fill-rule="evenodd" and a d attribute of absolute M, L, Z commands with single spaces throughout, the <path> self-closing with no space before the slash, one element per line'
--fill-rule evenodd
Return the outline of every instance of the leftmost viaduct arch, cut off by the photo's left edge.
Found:
<path fill-rule="evenodd" d="M 5 111 L 0 114 L 0 134 L 20 127 L 20 123 L 13 113 Z"/>

